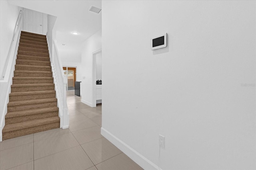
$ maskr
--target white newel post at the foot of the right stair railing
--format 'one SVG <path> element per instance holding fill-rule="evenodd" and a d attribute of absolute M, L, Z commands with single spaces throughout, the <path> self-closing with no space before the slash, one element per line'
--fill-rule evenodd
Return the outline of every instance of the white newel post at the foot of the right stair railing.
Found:
<path fill-rule="evenodd" d="M 69 115 L 68 115 L 68 106 L 66 100 L 66 88 L 67 88 L 68 78 L 63 76 L 63 127 L 62 129 L 67 129 L 69 127 Z"/>

